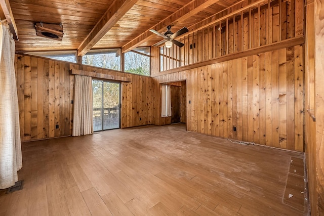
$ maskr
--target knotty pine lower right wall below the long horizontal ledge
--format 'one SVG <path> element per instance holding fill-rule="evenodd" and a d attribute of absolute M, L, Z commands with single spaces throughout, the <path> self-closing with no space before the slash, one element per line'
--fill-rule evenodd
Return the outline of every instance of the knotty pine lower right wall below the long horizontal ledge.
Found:
<path fill-rule="evenodd" d="M 298 45 L 156 76 L 153 107 L 159 83 L 187 79 L 188 131 L 303 151 L 302 53 Z"/>

